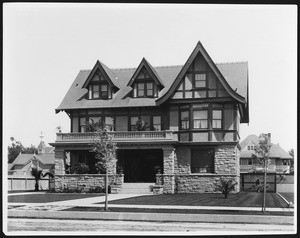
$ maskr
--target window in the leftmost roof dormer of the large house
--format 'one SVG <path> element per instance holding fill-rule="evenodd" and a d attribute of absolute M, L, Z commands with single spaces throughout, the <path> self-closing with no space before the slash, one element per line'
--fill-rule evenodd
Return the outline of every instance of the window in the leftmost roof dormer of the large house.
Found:
<path fill-rule="evenodd" d="M 107 81 L 96 74 L 89 85 L 89 99 L 110 99 L 111 87 Z"/>

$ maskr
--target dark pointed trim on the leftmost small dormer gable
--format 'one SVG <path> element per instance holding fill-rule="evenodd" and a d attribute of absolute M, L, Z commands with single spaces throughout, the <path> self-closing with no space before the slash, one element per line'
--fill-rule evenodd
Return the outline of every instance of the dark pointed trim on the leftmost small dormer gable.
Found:
<path fill-rule="evenodd" d="M 87 86 L 89 85 L 90 81 L 92 80 L 92 78 L 96 74 L 97 70 L 100 70 L 101 74 L 103 75 L 103 77 L 105 78 L 105 80 L 107 80 L 108 84 L 111 87 L 119 89 L 119 87 L 115 83 L 113 83 L 113 81 L 117 80 L 117 77 L 114 76 L 113 72 L 106 72 L 106 70 L 109 70 L 109 68 L 107 66 L 105 66 L 104 64 L 102 64 L 99 60 L 97 60 L 94 68 L 92 69 L 92 71 L 90 72 L 90 74 L 87 77 L 86 81 L 82 85 L 82 88 L 87 88 Z"/>

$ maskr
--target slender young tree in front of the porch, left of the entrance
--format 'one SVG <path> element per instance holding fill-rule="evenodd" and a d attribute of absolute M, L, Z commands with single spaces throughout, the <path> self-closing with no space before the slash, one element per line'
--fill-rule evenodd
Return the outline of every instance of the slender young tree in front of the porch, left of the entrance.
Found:
<path fill-rule="evenodd" d="M 105 211 L 108 211 L 108 174 L 113 174 L 116 170 L 116 148 L 114 137 L 107 131 L 107 127 L 98 127 L 92 143 L 92 152 L 97 160 L 96 169 L 99 172 L 105 171 Z"/>

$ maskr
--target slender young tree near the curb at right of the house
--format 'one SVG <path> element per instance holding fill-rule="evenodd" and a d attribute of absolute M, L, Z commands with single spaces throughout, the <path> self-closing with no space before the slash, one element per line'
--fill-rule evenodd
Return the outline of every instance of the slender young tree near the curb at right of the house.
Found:
<path fill-rule="evenodd" d="M 253 154 L 253 158 L 255 158 L 260 164 L 263 165 L 264 171 L 264 195 L 262 201 L 262 212 L 266 211 L 266 193 L 267 193 L 267 170 L 268 165 L 270 163 L 269 152 L 271 148 L 270 137 L 267 134 L 259 135 L 258 145 L 255 146 L 255 154 Z"/>

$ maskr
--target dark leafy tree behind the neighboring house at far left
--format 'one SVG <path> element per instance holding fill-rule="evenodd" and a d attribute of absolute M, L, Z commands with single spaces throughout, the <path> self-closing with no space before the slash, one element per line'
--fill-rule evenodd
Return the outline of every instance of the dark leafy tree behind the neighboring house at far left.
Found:
<path fill-rule="evenodd" d="M 11 146 L 8 146 L 8 163 L 14 162 L 20 153 L 22 154 L 37 154 L 38 150 L 34 145 L 30 147 L 24 147 L 20 141 L 15 140 L 14 137 L 10 137 L 12 142 Z"/>

